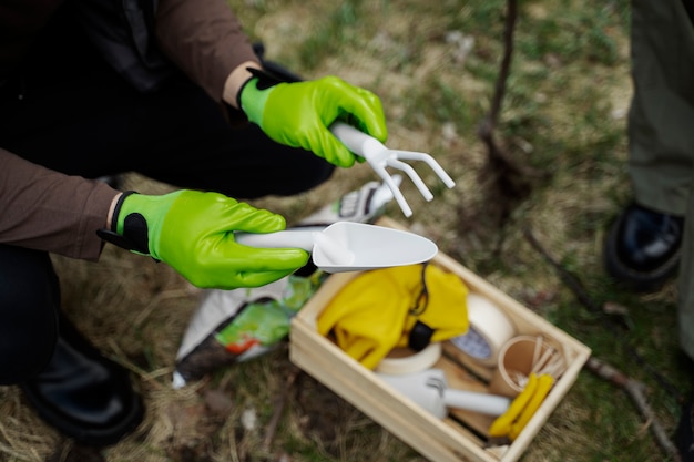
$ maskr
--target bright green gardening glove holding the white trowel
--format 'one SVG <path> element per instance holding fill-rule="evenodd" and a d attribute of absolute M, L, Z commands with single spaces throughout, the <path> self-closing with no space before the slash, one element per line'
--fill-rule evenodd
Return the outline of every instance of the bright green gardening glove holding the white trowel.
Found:
<path fill-rule="evenodd" d="M 111 223 L 110 230 L 98 232 L 104 240 L 164 261 L 203 288 L 264 286 L 308 260 L 308 254 L 298 248 L 255 248 L 236 243 L 236 230 L 278 232 L 285 228 L 285 219 L 217 193 L 124 193 Z"/>

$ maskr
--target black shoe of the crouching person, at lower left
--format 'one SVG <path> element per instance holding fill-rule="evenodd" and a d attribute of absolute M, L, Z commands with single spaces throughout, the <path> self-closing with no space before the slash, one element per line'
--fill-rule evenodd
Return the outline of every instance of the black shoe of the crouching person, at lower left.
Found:
<path fill-rule="evenodd" d="M 115 444 L 144 414 L 127 370 L 103 357 L 63 317 L 48 368 L 22 389 L 42 419 L 84 445 Z"/>

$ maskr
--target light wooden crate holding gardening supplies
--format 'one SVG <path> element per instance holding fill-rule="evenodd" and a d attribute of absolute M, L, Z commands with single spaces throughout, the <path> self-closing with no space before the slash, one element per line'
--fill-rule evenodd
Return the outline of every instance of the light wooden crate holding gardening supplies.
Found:
<path fill-rule="evenodd" d="M 381 219 L 378 224 L 402 228 L 390 219 Z M 497 305 L 513 321 L 518 335 L 542 335 L 563 349 L 568 369 L 512 444 L 484 449 L 481 435 L 489 428 L 491 418 L 452 411 L 450 418 L 437 419 L 347 356 L 331 340 L 317 333 L 316 319 L 323 308 L 358 273 L 331 275 L 293 319 L 289 359 L 431 461 L 517 461 L 574 383 L 590 356 L 590 349 L 450 257 L 439 253 L 432 263 L 458 275 L 471 292 L 484 296 Z M 450 352 L 446 345 L 443 350 Z M 466 361 L 465 356 L 445 355 L 436 367 L 446 371 L 450 388 L 472 391 L 486 391 L 484 379 L 492 373 L 491 369 Z"/>

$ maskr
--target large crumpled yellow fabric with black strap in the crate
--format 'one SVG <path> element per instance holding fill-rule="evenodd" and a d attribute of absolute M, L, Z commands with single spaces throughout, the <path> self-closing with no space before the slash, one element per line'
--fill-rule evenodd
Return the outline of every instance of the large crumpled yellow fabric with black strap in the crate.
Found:
<path fill-rule="evenodd" d="M 468 288 L 459 277 L 432 265 L 366 271 L 326 306 L 317 320 L 318 333 L 333 332 L 348 356 L 375 369 L 392 348 L 410 345 L 418 321 L 430 329 L 429 341 L 465 333 L 467 295 Z"/>

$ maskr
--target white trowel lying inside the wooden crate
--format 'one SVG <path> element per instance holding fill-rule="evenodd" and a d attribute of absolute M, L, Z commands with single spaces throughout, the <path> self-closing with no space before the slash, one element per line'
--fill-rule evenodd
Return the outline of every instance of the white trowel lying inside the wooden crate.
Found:
<path fill-rule="evenodd" d="M 506 397 L 449 389 L 441 369 L 397 376 L 378 373 L 378 377 L 439 419 L 448 414 L 448 408 L 498 417 L 511 404 Z"/>

